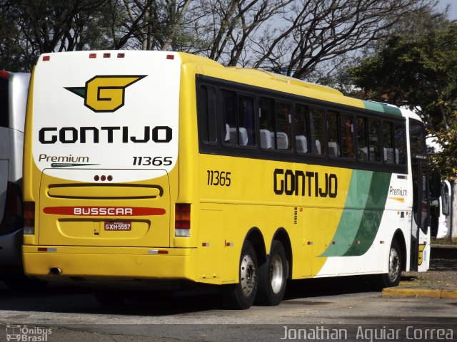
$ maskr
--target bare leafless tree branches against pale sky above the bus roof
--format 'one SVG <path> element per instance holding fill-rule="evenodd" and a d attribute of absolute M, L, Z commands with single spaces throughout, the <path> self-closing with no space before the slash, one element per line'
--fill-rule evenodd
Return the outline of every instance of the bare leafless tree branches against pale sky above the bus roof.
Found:
<path fill-rule="evenodd" d="M 307 78 L 323 63 L 343 58 L 388 33 L 411 11 L 434 0 L 295 1 L 282 16 L 282 32 L 264 31 L 253 41 L 254 68 Z"/>

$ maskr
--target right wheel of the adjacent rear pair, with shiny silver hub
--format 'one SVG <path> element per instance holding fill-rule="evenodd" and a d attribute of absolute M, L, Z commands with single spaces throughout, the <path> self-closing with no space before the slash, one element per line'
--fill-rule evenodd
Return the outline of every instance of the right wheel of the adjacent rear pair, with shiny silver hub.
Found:
<path fill-rule="evenodd" d="M 287 281 L 286 251 L 277 240 L 271 244 L 271 252 L 258 268 L 258 292 L 256 303 L 276 306 L 283 300 Z"/>

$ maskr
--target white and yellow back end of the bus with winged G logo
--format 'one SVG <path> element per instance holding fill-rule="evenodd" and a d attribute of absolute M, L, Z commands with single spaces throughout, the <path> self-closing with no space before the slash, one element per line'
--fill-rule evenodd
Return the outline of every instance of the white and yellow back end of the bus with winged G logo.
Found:
<path fill-rule="evenodd" d="M 194 280 L 191 204 L 178 188 L 182 68 L 178 53 L 152 51 L 39 58 L 26 118 L 26 274 Z"/>

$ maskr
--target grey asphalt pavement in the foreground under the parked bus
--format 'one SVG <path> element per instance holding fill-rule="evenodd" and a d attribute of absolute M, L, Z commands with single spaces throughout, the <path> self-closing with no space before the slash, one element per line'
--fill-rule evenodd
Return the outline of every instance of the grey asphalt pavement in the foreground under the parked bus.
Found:
<path fill-rule="evenodd" d="M 370 338 L 370 333 L 388 333 L 394 328 L 400 333 L 396 341 L 411 341 L 407 332 L 411 335 L 415 329 L 425 328 L 444 329 L 453 333 L 449 341 L 457 340 L 456 330 L 446 330 L 457 326 L 455 300 L 386 298 L 359 278 L 294 281 L 290 285 L 280 306 L 253 306 L 246 311 L 224 309 L 221 296 L 212 290 L 179 292 L 166 304 L 129 302 L 106 308 L 85 289 L 48 286 L 24 293 L 2 287 L 0 324 L 4 328 L 0 326 L 0 341 L 5 341 L 13 325 L 20 326 L 29 341 L 46 335 L 43 331 L 48 328 L 51 333 L 46 341 L 303 340 L 297 328 L 308 331 L 308 341 L 338 340 L 328 334 L 339 329 L 346 330 L 348 341 L 373 342 L 379 340 Z M 412 328 L 406 331 L 408 326 Z M 309 338 L 310 332 L 324 336 Z M 416 341 L 436 341 L 418 333 L 422 330 L 416 332 L 416 337 L 421 337 Z"/>

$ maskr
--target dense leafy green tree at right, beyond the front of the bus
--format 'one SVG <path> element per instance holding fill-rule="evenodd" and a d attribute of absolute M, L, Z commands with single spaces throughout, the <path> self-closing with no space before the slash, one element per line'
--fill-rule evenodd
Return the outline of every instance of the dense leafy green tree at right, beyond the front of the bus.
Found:
<path fill-rule="evenodd" d="M 403 27 L 349 68 L 351 95 L 415 108 L 443 147 L 432 159 L 443 177 L 457 177 L 457 23 L 431 11 Z"/>

